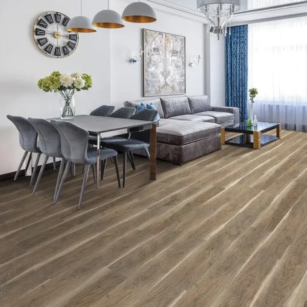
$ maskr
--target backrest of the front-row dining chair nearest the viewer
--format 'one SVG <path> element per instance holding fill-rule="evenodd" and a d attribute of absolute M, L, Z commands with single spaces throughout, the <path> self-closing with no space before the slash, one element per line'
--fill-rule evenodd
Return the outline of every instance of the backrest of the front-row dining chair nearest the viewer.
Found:
<path fill-rule="evenodd" d="M 89 131 L 60 120 L 51 120 L 61 137 L 61 151 L 65 159 L 73 163 L 87 163 Z"/>

